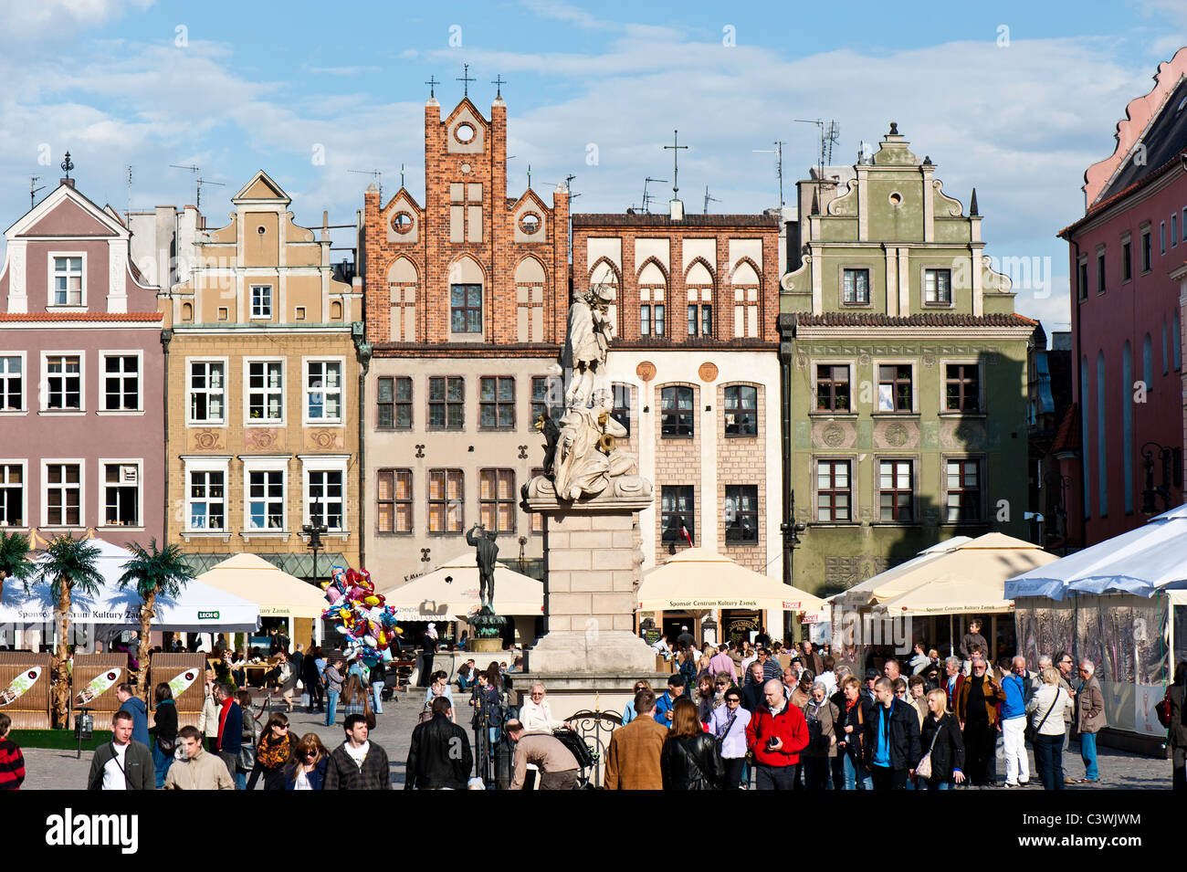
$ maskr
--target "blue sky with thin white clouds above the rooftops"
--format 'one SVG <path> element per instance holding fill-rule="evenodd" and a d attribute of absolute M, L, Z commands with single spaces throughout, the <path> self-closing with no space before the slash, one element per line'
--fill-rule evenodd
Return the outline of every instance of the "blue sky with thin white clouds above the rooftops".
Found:
<path fill-rule="evenodd" d="M 278 11 L 283 9 L 283 14 Z M 407 13 L 414 14 L 407 14 Z M 353 223 L 373 171 L 423 202 L 431 76 L 445 116 L 469 95 L 489 116 L 504 79 L 508 195 L 550 201 L 573 176 L 573 211 L 641 205 L 672 179 L 702 211 L 779 204 L 819 159 L 852 164 L 896 121 L 945 193 L 976 186 L 985 253 L 1028 259 L 1016 310 L 1067 330 L 1066 243 L 1084 171 L 1113 149 L 1129 100 L 1187 44 L 1187 2 L 275 4 L 37 0 L 0 5 L 0 221 L 57 184 L 70 151 L 78 190 L 119 211 L 195 201 L 226 223 L 229 198 L 265 170 L 297 223 Z M 128 170 L 132 166 L 132 184 Z M 659 203 L 669 185 L 653 183 Z M 661 206 L 662 208 L 662 206 Z M 337 231 L 335 244 L 351 244 Z M 1017 261 L 1007 261 L 1017 262 Z"/>

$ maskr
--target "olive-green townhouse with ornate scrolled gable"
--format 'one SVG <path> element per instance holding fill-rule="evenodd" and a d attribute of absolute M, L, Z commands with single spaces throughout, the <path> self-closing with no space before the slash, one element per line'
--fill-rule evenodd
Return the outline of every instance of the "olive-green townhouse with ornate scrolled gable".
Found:
<path fill-rule="evenodd" d="M 1035 322 L 983 254 L 976 190 L 965 212 L 908 146 L 891 123 L 872 158 L 813 170 L 788 224 L 779 327 L 799 543 L 785 564 L 817 593 L 952 536 L 1029 528 Z"/>

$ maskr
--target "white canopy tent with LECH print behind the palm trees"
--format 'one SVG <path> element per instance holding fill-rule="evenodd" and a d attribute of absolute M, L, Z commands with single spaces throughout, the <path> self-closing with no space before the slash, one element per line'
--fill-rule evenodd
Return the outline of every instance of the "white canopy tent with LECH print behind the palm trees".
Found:
<path fill-rule="evenodd" d="M 99 592 L 89 597 L 75 588 L 70 597 L 70 622 L 89 624 L 104 630 L 139 629 L 140 596 L 129 586 L 120 590 L 119 579 L 123 564 L 132 552 L 101 539 L 89 540 L 100 549 L 96 561 L 103 578 Z M 39 558 L 39 564 L 44 558 Z M 34 572 L 38 572 L 34 567 Z M 25 592 L 24 585 L 7 581 L 0 599 L 0 624 L 52 628 L 57 600 L 50 583 L 34 574 Z M 153 630 L 174 632 L 250 632 L 260 625 L 260 609 L 241 597 L 220 591 L 201 581 L 189 583 L 178 597 L 157 597 L 152 619 Z M 52 634 L 49 629 L 46 636 Z"/>

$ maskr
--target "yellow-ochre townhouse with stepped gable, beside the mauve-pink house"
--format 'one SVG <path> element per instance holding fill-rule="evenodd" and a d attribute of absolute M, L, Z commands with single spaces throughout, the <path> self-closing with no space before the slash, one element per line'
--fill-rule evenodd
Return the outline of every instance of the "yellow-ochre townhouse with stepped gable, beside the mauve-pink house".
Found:
<path fill-rule="evenodd" d="M 362 288 L 330 265 L 329 222 L 316 238 L 290 202 L 258 172 L 230 223 L 199 218 L 192 268 L 161 300 L 167 535 L 199 572 L 252 552 L 312 579 L 301 527 L 317 522 L 319 578 L 360 561 Z"/>

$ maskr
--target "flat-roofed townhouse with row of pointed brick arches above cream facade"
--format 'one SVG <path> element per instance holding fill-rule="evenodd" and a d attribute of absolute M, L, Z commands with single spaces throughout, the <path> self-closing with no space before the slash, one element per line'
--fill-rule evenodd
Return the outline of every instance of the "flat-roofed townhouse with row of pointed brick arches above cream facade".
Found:
<path fill-rule="evenodd" d="M 696 546 L 781 579 L 779 218 L 685 215 L 674 201 L 668 215 L 572 225 L 575 289 L 615 288 L 615 416 L 655 485 L 643 568 L 687 547 L 684 526 Z"/>

